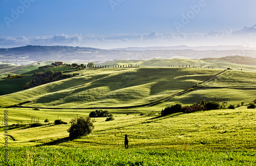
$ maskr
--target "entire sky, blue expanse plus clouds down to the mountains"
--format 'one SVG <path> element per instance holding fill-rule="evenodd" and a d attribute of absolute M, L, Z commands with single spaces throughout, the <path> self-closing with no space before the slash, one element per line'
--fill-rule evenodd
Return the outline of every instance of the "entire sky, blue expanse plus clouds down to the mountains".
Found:
<path fill-rule="evenodd" d="M 0 47 L 193 45 L 210 32 L 218 44 L 216 32 L 255 25 L 255 7 L 255 0 L 0 0 Z"/>

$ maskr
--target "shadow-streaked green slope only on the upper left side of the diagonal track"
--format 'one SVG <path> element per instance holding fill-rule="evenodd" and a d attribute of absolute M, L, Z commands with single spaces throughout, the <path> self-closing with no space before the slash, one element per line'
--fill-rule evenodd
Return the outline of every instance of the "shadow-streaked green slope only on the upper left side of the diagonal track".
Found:
<path fill-rule="evenodd" d="M 88 107 L 149 103 L 191 88 L 221 70 L 196 68 L 89 69 L 78 77 L 0 97 L 3 106 Z"/>

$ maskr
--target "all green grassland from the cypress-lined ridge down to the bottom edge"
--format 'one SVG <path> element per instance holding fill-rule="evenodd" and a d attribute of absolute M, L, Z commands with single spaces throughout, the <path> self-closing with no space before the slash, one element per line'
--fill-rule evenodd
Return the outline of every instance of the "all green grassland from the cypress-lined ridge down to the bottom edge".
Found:
<path fill-rule="evenodd" d="M 0 96 L 0 119 L 8 112 L 9 124 L 8 163 L 3 155 L 3 121 L 0 125 L 0 165 L 255 165 L 256 109 L 247 108 L 256 98 L 254 68 L 224 71 L 226 67 L 221 68 L 220 63 L 226 62 L 217 61 L 174 59 L 175 67 L 166 67 L 173 65 L 170 60 L 115 61 L 112 65 L 137 63 L 140 67 L 74 71 L 71 73 L 79 75 L 23 91 L 20 82 L 26 82 L 28 77 L 0 80 L 1 93 L 9 92 Z M 178 67 L 178 63 L 197 68 Z M 212 69 L 214 63 L 217 66 Z M 154 67 L 160 64 L 165 67 Z M 202 64 L 205 68 L 200 67 Z M 38 69 L 20 70 L 30 75 Z M 124 108 L 159 101 L 195 85 L 195 90 L 157 105 Z M 160 115 L 166 106 L 190 105 L 204 99 L 245 105 Z M 12 107 L 26 101 L 31 102 Z M 69 122 L 88 117 L 96 109 L 92 107 L 109 110 L 115 120 L 92 118 L 92 133 L 71 139 L 67 132 Z M 45 123 L 45 119 L 49 122 Z M 57 119 L 68 124 L 54 125 Z M 29 127 L 34 122 L 43 126 Z M 125 134 L 129 149 L 124 148 Z"/>

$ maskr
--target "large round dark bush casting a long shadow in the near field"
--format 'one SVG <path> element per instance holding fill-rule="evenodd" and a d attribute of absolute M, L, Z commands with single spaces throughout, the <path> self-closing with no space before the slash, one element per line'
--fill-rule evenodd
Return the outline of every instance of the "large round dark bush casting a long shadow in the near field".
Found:
<path fill-rule="evenodd" d="M 70 137 L 78 137 L 90 134 L 93 129 L 93 123 L 91 122 L 91 118 L 78 118 L 71 120 L 71 127 L 68 129 Z"/>

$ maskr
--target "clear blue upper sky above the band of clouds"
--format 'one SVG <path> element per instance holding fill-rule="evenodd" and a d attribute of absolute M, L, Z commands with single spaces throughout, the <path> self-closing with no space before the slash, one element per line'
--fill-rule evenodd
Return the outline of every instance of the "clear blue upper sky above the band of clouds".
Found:
<path fill-rule="evenodd" d="M 0 37 L 239 30 L 256 24 L 255 7 L 255 0 L 0 0 Z"/>

